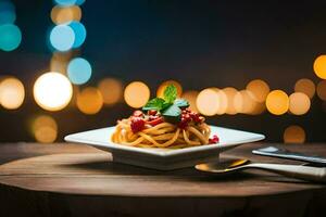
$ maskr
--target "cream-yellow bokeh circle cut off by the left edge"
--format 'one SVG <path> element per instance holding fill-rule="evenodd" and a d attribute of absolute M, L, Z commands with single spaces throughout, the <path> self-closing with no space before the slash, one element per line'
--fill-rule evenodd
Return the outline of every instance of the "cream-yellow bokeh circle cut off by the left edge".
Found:
<path fill-rule="evenodd" d="M 4 78 L 0 81 L 0 104 L 8 110 L 18 108 L 25 98 L 24 85 L 16 78 Z"/>

